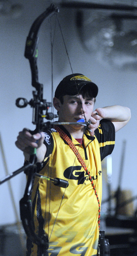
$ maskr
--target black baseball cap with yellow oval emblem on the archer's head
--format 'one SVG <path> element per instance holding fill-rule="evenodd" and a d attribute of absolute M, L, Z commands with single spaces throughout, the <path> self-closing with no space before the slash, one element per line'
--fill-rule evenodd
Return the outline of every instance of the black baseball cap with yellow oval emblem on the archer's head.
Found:
<path fill-rule="evenodd" d="M 89 87 L 90 90 L 92 89 L 92 95 L 96 98 L 98 94 L 97 85 L 79 73 L 64 77 L 55 90 L 55 97 L 60 99 L 64 95 L 77 95 L 84 86 Z"/>

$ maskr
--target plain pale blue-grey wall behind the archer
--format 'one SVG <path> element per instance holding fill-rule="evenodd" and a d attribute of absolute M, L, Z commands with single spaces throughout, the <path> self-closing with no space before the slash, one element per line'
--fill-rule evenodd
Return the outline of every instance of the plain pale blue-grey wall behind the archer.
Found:
<path fill-rule="evenodd" d="M 25 4 L 25 1 L 23 1 Z M 48 5 L 47 5 L 48 6 Z M 21 151 L 15 146 L 18 132 L 24 127 L 35 129 L 32 122 L 32 109 L 27 106 L 19 109 L 15 105 L 18 97 L 32 98 L 31 74 L 28 60 L 24 57 L 25 41 L 34 19 L 47 7 L 45 3 L 29 1 L 29 6 L 17 20 L 0 19 L 1 55 L 0 55 L 0 132 L 9 173 L 20 168 L 24 162 Z M 29 17 L 28 17 L 29 14 Z M 107 105 L 125 105 L 131 109 L 132 119 L 127 126 L 116 134 L 116 145 L 112 153 L 112 189 L 117 188 L 121 160 L 122 141 L 126 139 L 124 172 L 121 180 L 122 189 L 136 190 L 136 71 L 119 71 L 106 68 L 97 62 L 92 54 L 87 54 L 79 41 L 75 27 L 75 11 L 60 10 L 59 19 L 69 52 L 73 73 L 80 72 L 89 77 L 99 87 L 95 108 Z M 48 29 L 49 32 L 49 29 Z M 44 98 L 51 101 L 51 61 L 50 42 L 47 24 L 42 24 L 39 41 L 39 81 L 44 84 Z M 71 69 L 60 33 L 55 38 L 54 48 L 54 90 Z M 0 177 L 4 177 L 4 165 L 0 154 Z M 21 173 L 11 180 L 16 207 L 19 214 L 19 200 L 23 196 L 26 177 Z M 104 185 L 105 186 L 105 185 Z M 10 200 L 7 182 L 0 186 L 0 225 L 14 223 L 15 216 Z M 106 193 L 106 191 L 105 191 Z M 106 195 L 105 195 L 106 196 Z"/>

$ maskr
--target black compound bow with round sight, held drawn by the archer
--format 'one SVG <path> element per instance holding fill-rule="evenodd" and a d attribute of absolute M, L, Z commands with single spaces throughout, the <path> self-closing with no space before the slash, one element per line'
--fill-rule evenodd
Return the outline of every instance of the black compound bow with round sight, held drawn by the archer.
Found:
<path fill-rule="evenodd" d="M 52 106 L 51 102 L 47 102 L 43 99 L 43 84 L 38 81 L 38 67 L 37 67 L 37 56 L 38 56 L 38 31 L 41 23 L 45 18 L 49 18 L 55 13 L 58 13 L 59 9 L 55 7 L 53 4 L 50 5 L 49 8 L 45 10 L 32 24 L 27 40 L 26 40 L 26 48 L 25 48 L 25 57 L 29 59 L 30 68 L 31 68 L 31 76 L 32 76 L 32 86 L 36 88 L 36 91 L 33 91 L 33 99 L 29 102 L 25 98 L 18 98 L 16 100 L 16 105 L 19 108 L 24 108 L 28 104 L 33 108 L 33 119 L 32 123 L 36 125 L 35 131 L 31 132 L 32 134 L 43 131 L 43 128 L 49 128 L 53 123 L 50 121 L 44 123 L 43 118 L 47 120 L 52 120 L 57 117 L 53 113 L 49 113 L 48 109 Z M 43 110 L 45 114 L 43 114 Z M 79 124 L 83 124 L 83 122 L 78 122 Z M 64 124 L 64 123 L 56 123 L 56 124 Z M 66 124 L 66 123 L 65 123 Z M 67 123 L 70 124 L 70 123 Z M 85 126 L 87 124 L 84 124 Z M 31 192 L 33 188 L 34 178 L 35 176 L 39 178 L 44 178 L 47 180 L 51 180 L 56 186 L 66 188 L 69 184 L 66 180 L 61 180 L 59 178 L 49 178 L 38 174 L 38 170 L 40 170 L 40 163 L 37 163 L 36 157 L 36 148 L 31 148 L 29 163 L 24 167 L 25 173 L 28 175 L 27 185 L 25 189 L 24 197 L 20 200 L 20 216 L 22 220 L 23 227 L 28 238 L 36 243 L 41 248 L 41 256 L 48 255 L 48 234 L 44 233 L 41 237 L 38 237 L 34 232 L 34 225 L 32 221 L 32 202 L 31 202 Z M 21 169 L 21 168 L 20 168 Z M 20 170 L 19 169 L 19 170 Z"/>

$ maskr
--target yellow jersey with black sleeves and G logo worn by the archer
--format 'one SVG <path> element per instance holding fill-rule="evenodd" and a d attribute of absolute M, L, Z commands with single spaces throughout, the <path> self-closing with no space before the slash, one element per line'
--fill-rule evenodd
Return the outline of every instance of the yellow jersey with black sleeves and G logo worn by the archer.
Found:
<path fill-rule="evenodd" d="M 115 128 L 110 121 L 101 120 L 95 136 L 88 131 L 83 144 L 71 138 L 93 178 L 101 204 L 101 160 L 111 154 L 115 144 Z M 45 156 L 40 174 L 69 180 L 67 188 L 35 178 L 32 194 L 33 226 L 40 237 L 49 236 L 49 256 L 93 256 L 97 254 L 99 227 L 98 201 L 88 175 L 69 145 L 56 130 L 45 132 L 45 144 L 51 148 Z M 52 144 L 52 145 L 51 145 Z M 27 240 L 27 256 L 39 256 L 40 248 Z M 46 254 L 45 254 L 46 255 Z"/>

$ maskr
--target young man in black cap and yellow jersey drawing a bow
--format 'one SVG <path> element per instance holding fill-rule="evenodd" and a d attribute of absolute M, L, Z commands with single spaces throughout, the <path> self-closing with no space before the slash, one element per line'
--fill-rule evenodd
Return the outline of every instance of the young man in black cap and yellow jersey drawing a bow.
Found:
<path fill-rule="evenodd" d="M 29 146 L 37 148 L 38 162 L 43 162 L 41 174 L 69 181 L 67 188 L 60 188 L 36 178 L 33 187 L 35 232 L 39 235 L 44 229 L 49 235 L 51 256 L 97 254 L 101 160 L 112 153 L 115 132 L 131 117 L 129 108 L 118 105 L 93 111 L 97 93 L 97 85 L 82 74 L 65 77 L 56 88 L 53 104 L 59 122 L 76 124 L 55 126 L 35 135 L 24 129 L 17 137 L 16 146 L 26 160 Z M 85 129 L 77 124 L 80 119 L 91 123 Z M 40 248 L 27 241 L 30 255 L 40 255 Z"/>

